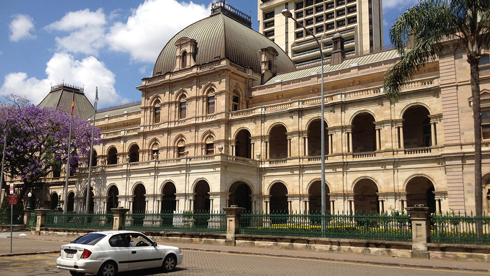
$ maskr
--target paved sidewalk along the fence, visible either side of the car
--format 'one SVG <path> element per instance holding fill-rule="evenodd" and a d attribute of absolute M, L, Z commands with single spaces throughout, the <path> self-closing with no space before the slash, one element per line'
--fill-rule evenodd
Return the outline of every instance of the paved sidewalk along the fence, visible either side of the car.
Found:
<path fill-rule="evenodd" d="M 4 238 L 9 236 L 10 233 L 0 234 L 0 257 L 11 255 L 10 245 L 6 246 L 7 242 L 10 243 L 10 238 Z M 42 252 L 58 252 L 59 246 L 66 244 L 73 240 L 73 238 L 67 238 L 66 236 L 34 236 L 29 233 L 19 236 L 19 232 L 14 232 L 13 254 L 36 254 Z M 28 244 L 28 246 L 16 247 L 19 244 Z M 232 246 L 220 246 L 220 245 L 207 245 L 207 244 L 187 244 L 187 243 L 165 243 L 165 245 L 176 246 L 182 250 L 196 250 L 196 251 L 217 251 L 217 252 L 230 252 L 239 254 L 259 254 L 259 255 L 271 255 L 293 258 L 305 258 L 305 259 L 322 259 L 337 262 L 353 262 L 353 263 L 368 263 L 377 265 L 390 265 L 390 266 L 405 266 L 405 267 L 418 267 L 418 268 L 437 268 L 437 269 L 452 269 L 462 271 L 477 271 L 477 272 L 489 272 L 490 263 L 488 262 L 469 262 L 469 261 L 453 261 L 453 260 L 426 260 L 426 259 L 412 259 L 412 258 L 396 258 L 386 256 L 373 256 L 364 254 L 349 254 L 349 253 L 333 253 L 333 252 L 317 252 L 317 251 L 301 251 L 301 250 L 282 250 L 282 249 L 268 249 L 268 248 L 253 248 L 253 247 L 232 247 Z"/>

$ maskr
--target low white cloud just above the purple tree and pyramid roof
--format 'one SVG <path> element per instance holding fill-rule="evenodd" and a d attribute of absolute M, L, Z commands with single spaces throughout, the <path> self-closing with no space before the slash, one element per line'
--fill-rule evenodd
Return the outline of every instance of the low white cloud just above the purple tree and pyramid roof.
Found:
<path fill-rule="evenodd" d="M 95 87 L 98 86 L 99 106 L 121 102 L 114 84 L 116 76 L 94 56 L 75 60 L 67 53 L 55 53 L 46 64 L 45 79 L 27 78 L 23 72 L 10 73 L 5 76 L 5 82 L 0 87 L 0 95 L 12 93 L 21 95 L 32 103 L 39 103 L 49 92 L 50 84 L 67 80 L 76 86 L 85 86 L 85 96 L 92 102 L 95 99 Z"/>

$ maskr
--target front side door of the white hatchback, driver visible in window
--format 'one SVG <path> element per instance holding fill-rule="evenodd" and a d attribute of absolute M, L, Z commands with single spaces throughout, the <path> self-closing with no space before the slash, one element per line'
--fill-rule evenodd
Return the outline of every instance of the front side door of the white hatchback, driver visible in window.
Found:
<path fill-rule="evenodd" d="M 129 269 L 158 267 L 162 264 L 160 251 L 156 250 L 152 245 L 152 241 L 147 236 L 139 233 L 131 233 L 129 245 Z"/>

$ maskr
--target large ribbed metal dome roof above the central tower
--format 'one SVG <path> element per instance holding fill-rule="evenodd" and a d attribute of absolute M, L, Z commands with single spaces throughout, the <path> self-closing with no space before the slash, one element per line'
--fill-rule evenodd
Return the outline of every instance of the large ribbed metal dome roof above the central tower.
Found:
<path fill-rule="evenodd" d="M 177 50 L 175 43 L 182 37 L 196 40 L 196 64 L 228 58 L 260 73 L 260 49 L 273 47 L 279 54 L 275 61 L 277 73 L 295 69 L 289 56 L 270 39 L 222 13 L 217 13 L 187 26 L 172 37 L 156 60 L 153 76 L 173 70 Z"/>

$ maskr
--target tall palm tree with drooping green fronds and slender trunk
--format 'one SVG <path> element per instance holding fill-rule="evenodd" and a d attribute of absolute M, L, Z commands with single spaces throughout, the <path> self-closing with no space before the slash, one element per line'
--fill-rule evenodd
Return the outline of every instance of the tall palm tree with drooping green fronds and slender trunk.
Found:
<path fill-rule="evenodd" d="M 481 52 L 490 46 L 489 0 L 420 0 L 401 14 L 390 28 L 390 40 L 400 59 L 386 73 L 385 94 L 392 102 L 401 86 L 428 61 L 436 58 L 444 41 L 459 40 L 470 66 L 475 134 L 475 213 L 482 215 L 482 148 L 480 112 Z M 410 42 L 411 47 L 406 47 Z"/>

